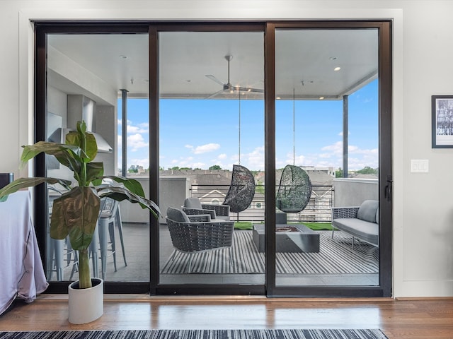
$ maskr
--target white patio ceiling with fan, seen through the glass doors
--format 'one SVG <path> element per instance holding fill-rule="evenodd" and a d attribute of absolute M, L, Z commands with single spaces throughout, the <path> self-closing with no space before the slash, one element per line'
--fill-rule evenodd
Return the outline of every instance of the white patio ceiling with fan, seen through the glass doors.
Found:
<path fill-rule="evenodd" d="M 49 35 L 48 43 L 111 88 L 147 96 L 147 35 Z M 377 30 L 281 30 L 275 50 L 275 90 L 282 99 L 292 99 L 293 89 L 296 98 L 339 99 L 377 78 Z M 160 33 L 161 97 L 206 98 L 222 90 L 207 75 L 227 82 L 226 55 L 233 56 L 232 85 L 264 88 L 262 32 Z M 340 71 L 333 71 L 336 66 Z M 56 81 L 49 79 L 67 93 L 86 94 L 71 81 Z M 214 98 L 236 98 L 237 93 L 224 91 Z M 242 94 L 263 98 L 262 93 Z"/>

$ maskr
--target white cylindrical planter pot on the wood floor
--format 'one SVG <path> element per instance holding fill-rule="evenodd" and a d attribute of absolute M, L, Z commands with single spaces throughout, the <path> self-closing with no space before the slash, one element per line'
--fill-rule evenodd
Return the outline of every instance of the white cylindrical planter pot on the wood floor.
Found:
<path fill-rule="evenodd" d="M 79 281 L 68 287 L 69 322 L 90 323 L 100 318 L 104 311 L 104 282 L 101 278 L 91 278 L 93 287 L 79 289 Z"/>

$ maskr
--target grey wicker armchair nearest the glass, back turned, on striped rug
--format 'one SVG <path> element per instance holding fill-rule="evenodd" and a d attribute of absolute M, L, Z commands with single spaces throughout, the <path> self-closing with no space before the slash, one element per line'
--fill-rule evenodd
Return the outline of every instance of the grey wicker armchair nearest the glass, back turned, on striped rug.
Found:
<path fill-rule="evenodd" d="M 229 264 L 233 265 L 233 221 L 213 221 L 210 215 L 187 215 L 178 208 L 167 209 L 167 225 L 173 247 L 183 253 L 193 254 L 216 249 L 228 249 Z M 176 251 L 170 260 L 173 260 Z M 190 256 L 188 272 L 192 272 Z"/>

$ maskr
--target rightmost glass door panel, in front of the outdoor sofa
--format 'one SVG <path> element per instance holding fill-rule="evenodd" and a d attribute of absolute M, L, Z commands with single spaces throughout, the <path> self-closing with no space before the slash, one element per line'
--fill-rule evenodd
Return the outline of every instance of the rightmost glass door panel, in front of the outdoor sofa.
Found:
<path fill-rule="evenodd" d="M 331 214 L 379 200 L 378 57 L 377 29 L 275 32 L 277 286 L 379 285 L 379 247 Z"/>

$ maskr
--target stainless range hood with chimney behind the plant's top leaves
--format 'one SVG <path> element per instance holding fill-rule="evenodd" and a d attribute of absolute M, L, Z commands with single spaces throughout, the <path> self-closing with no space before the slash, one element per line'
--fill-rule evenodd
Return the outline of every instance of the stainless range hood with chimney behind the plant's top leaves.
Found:
<path fill-rule="evenodd" d="M 67 95 L 67 129 L 57 129 L 48 140 L 54 143 L 64 143 L 69 131 L 76 131 L 77 121 L 84 120 L 86 131 L 93 134 L 98 144 L 98 153 L 112 153 L 113 148 L 98 133 L 93 132 L 93 120 L 96 114 L 96 102 L 84 95 Z"/>

